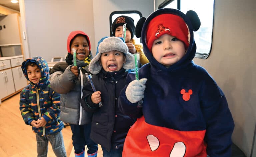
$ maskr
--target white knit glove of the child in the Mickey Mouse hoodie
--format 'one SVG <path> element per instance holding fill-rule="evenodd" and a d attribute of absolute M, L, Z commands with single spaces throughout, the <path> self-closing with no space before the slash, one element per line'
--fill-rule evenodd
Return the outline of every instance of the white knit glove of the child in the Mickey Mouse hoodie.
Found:
<path fill-rule="evenodd" d="M 147 78 L 142 78 L 140 80 L 133 80 L 128 84 L 125 95 L 131 103 L 136 103 L 144 97 L 146 82 Z"/>

